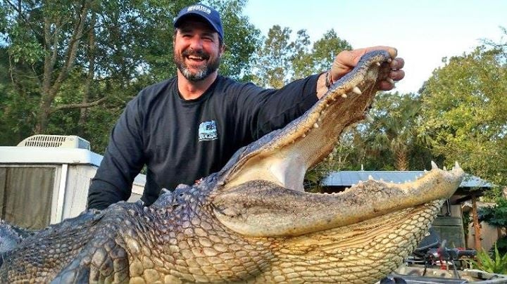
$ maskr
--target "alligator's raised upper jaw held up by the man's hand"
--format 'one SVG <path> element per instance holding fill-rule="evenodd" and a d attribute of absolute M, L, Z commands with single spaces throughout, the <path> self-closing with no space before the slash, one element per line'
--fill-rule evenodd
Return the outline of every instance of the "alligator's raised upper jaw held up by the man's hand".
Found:
<path fill-rule="evenodd" d="M 239 150 L 223 169 L 223 190 L 264 180 L 303 191 L 306 170 L 331 153 L 346 127 L 365 118 L 390 60 L 387 51 L 367 53 L 304 115 Z"/>

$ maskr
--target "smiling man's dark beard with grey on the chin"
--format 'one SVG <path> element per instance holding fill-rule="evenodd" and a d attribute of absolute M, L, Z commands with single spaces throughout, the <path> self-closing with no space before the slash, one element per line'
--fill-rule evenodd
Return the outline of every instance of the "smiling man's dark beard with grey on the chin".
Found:
<path fill-rule="evenodd" d="M 218 56 L 215 60 L 208 61 L 207 64 L 199 67 L 199 70 L 196 72 L 192 72 L 189 70 L 187 63 L 184 62 L 184 58 L 188 56 L 196 56 L 203 58 L 204 60 L 209 60 L 210 56 L 202 49 L 199 51 L 196 51 L 194 49 L 187 49 L 182 52 L 181 56 L 177 56 L 177 54 L 174 53 L 174 60 L 177 68 L 180 70 L 180 72 L 182 72 L 182 75 L 185 78 L 192 82 L 198 82 L 205 79 L 211 73 L 218 70 L 218 66 L 220 66 L 220 56 Z"/>

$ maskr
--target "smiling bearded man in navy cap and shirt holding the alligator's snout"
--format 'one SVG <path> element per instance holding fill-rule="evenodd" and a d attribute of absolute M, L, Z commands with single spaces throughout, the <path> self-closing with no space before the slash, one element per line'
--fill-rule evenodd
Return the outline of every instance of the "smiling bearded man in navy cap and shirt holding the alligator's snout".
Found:
<path fill-rule="evenodd" d="M 218 75 L 223 27 L 218 12 L 201 4 L 180 11 L 174 22 L 177 76 L 148 86 L 127 104 L 111 132 L 101 166 L 89 188 L 88 207 L 104 209 L 130 197 L 132 181 L 146 164 L 142 200 L 151 205 L 161 188 L 192 184 L 218 172 L 234 152 L 280 129 L 324 95 L 374 47 L 339 53 L 329 72 L 262 89 Z M 389 77 L 404 76 L 403 60 Z M 380 89 L 394 87 L 392 80 Z"/>

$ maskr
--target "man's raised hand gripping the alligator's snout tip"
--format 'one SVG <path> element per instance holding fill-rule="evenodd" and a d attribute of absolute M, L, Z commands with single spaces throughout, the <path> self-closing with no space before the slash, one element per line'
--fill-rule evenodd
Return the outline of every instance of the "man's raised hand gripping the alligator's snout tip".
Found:
<path fill-rule="evenodd" d="M 338 79 L 351 72 L 353 67 L 357 65 L 361 56 L 365 55 L 370 51 L 375 51 L 383 49 L 391 55 L 393 60 L 389 63 L 391 67 L 391 72 L 389 72 L 388 78 L 391 80 L 386 80 L 380 82 L 379 88 L 382 91 L 389 91 L 394 88 L 394 83 L 403 79 L 405 77 L 405 72 L 401 70 L 405 61 L 403 58 L 396 58 L 398 51 L 396 49 L 389 46 L 373 46 L 365 49 L 354 49 L 353 51 L 342 51 L 338 53 L 337 57 L 334 58 L 332 67 L 331 67 L 331 79 L 333 82 L 336 82 Z"/>

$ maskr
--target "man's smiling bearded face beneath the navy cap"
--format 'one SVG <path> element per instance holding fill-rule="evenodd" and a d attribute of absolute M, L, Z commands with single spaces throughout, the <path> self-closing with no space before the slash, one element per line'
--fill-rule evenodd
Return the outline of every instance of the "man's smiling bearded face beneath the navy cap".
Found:
<path fill-rule="evenodd" d="M 218 69 L 223 46 L 213 27 L 199 18 L 188 18 L 177 27 L 175 63 L 190 81 L 200 81 Z"/>

